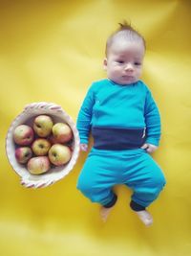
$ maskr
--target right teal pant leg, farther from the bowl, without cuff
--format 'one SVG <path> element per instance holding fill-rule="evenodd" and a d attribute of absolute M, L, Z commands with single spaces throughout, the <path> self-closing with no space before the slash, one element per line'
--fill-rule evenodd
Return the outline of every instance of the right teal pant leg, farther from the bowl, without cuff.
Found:
<path fill-rule="evenodd" d="M 132 161 L 132 162 L 131 162 Z M 127 166 L 125 184 L 133 190 L 132 200 L 142 207 L 149 206 L 159 197 L 165 177 L 159 165 L 146 151 L 139 151 Z"/>

